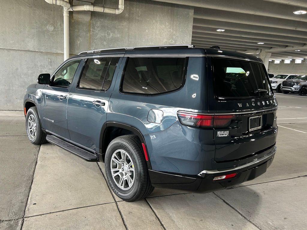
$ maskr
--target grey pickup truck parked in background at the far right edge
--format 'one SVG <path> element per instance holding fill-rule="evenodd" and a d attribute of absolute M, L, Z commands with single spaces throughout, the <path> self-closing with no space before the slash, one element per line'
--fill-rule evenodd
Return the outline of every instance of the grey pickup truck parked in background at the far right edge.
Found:
<path fill-rule="evenodd" d="M 282 82 L 281 90 L 284 94 L 289 92 L 298 93 L 301 96 L 307 95 L 307 75 L 298 75 L 292 80 Z"/>

